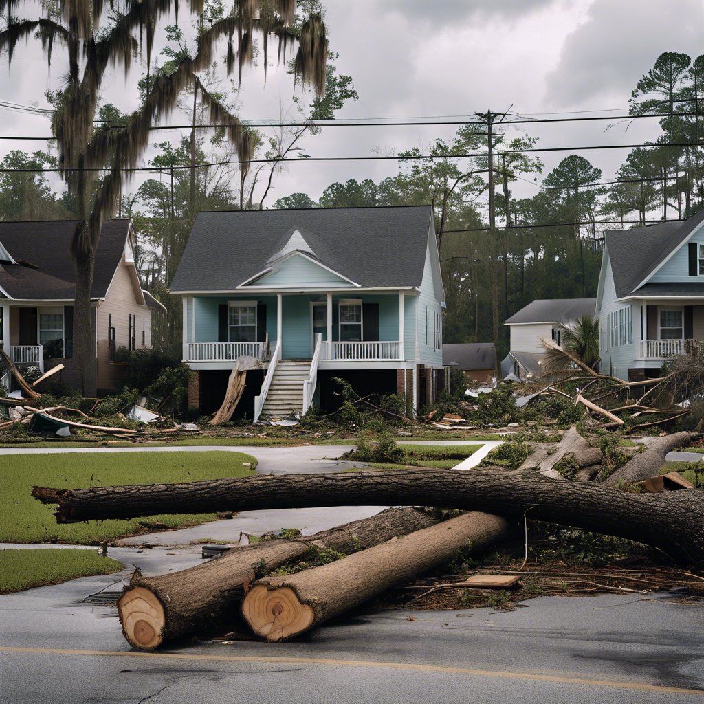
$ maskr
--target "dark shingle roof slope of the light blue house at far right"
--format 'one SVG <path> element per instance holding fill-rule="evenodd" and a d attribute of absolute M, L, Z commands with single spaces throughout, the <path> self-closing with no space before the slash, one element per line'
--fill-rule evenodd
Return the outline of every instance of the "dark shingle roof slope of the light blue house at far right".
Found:
<path fill-rule="evenodd" d="M 701 210 L 686 222 L 661 222 L 660 225 L 634 227 L 632 230 L 605 230 L 617 298 L 631 294 L 703 220 L 704 210 Z"/>

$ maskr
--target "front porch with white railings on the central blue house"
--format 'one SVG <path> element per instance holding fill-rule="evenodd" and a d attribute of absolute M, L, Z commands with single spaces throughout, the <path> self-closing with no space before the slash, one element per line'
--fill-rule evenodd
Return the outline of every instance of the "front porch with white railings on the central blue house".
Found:
<path fill-rule="evenodd" d="M 406 346 L 415 337 L 415 298 L 395 291 L 350 295 L 186 297 L 183 360 L 203 370 L 231 367 L 241 356 L 256 358 L 265 367 L 272 359 L 315 357 L 322 367 L 407 360 Z"/>

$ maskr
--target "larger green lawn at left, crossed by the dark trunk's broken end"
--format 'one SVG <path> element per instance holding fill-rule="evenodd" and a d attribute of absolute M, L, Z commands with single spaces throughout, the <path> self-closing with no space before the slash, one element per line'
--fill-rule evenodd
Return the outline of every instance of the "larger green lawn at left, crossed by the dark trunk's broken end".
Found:
<path fill-rule="evenodd" d="M 251 467 L 242 463 L 249 462 Z M 192 482 L 220 477 L 249 477 L 256 459 L 235 452 L 65 453 L 0 455 L 0 542 L 81 543 L 96 545 L 125 536 L 182 528 L 215 520 L 214 513 L 156 515 L 130 521 L 56 524 L 53 507 L 30 496 L 32 486 L 77 489 Z"/>

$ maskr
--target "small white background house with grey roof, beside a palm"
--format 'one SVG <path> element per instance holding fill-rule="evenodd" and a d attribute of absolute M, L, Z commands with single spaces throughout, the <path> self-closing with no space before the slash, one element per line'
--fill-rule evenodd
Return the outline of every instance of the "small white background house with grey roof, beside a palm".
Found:
<path fill-rule="evenodd" d="M 582 315 L 594 315 L 596 298 L 538 298 L 514 313 L 504 325 L 511 334 L 510 352 L 501 362 L 505 379 L 525 381 L 543 374 L 544 339 L 562 344 L 562 329 Z"/>

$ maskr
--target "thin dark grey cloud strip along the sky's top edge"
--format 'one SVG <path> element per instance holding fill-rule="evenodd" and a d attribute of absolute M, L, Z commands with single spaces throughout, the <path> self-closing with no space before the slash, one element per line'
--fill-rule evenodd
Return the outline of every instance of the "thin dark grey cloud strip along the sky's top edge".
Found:
<path fill-rule="evenodd" d="M 384 10 L 403 13 L 409 20 L 442 27 L 470 18 L 516 20 L 552 2 L 553 0 L 385 0 Z"/>

